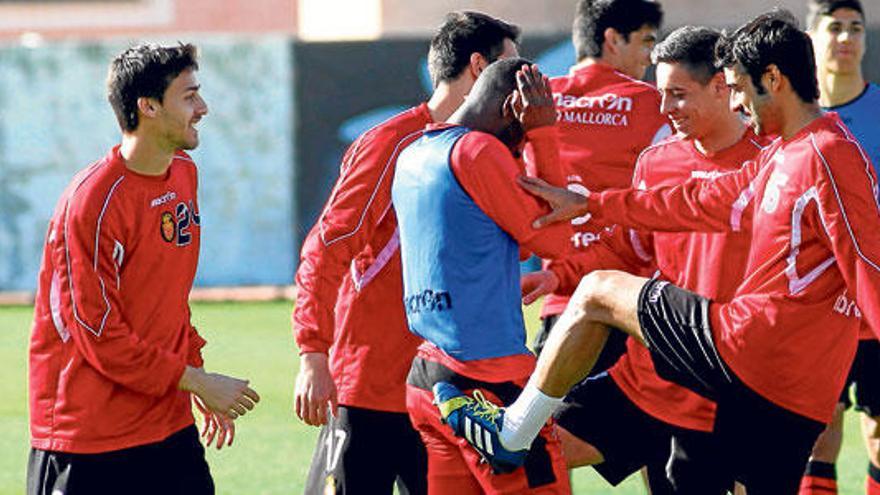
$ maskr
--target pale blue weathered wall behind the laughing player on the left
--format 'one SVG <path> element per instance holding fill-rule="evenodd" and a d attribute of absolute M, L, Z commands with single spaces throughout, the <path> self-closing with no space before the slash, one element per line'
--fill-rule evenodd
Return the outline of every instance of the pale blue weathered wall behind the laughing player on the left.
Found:
<path fill-rule="evenodd" d="M 210 113 L 200 170 L 201 285 L 286 284 L 294 246 L 293 98 L 284 37 L 194 40 Z M 73 174 L 119 139 L 107 63 L 123 43 L 0 48 L 0 291 L 33 289 L 48 219 Z"/>

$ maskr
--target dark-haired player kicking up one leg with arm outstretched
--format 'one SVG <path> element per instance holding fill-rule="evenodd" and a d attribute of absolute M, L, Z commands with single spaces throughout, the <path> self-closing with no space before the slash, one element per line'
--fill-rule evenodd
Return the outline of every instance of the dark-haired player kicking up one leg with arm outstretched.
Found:
<path fill-rule="evenodd" d="M 711 301 L 662 280 L 586 276 L 506 414 L 438 387 L 448 421 L 478 422 L 498 440 L 496 454 L 528 445 L 611 326 L 647 346 L 661 377 L 715 399 L 719 485 L 698 493 L 723 493 L 734 479 L 751 493 L 797 493 L 855 354 L 856 309 L 880 328 L 876 176 L 846 126 L 821 113 L 812 46 L 790 13 L 758 16 L 718 54 L 734 110 L 779 136 L 739 172 L 588 198 L 521 183 L 555 207 L 537 226 L 592 213 L 655 231 L 749 232 L 744 282 L 730 301 Z M 685 456 L 691 447 L 675 445 Z"/>

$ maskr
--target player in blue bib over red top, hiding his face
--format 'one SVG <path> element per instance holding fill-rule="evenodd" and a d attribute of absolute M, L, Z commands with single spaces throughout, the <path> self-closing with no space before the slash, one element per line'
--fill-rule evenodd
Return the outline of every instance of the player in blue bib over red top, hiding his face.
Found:
<path fill-rule="evenodd" d="M 565 251 L 571 229 L 530 227 L 543 207 L 516 185 L 512 150 L 527 135 L 532 169 L 562 185 L 556 111 L 544 78 L 523 59 L 499 60 L 447 123 L 428 126 L 397 160 L 392 197 L 400 224 L 409 328 L 425 339 L 407 378 L 407 408 L 428 450 L 428 492 L 568 493 L 565 461 L 551 426 L 528 456 L 490 466 L 441 423 L 435 383 L 452 381 L 506 403 L 534 368 L 519 296 L 520 249 Z M 481 448 L 484 431 L 468 430 Z M 488 437 L 486 437 L 488 438 Z M 500 448 L 500 446 L 499 446 Z M 523 467 L 516 467 L 523 464 Z M 512 470 L 505 469 L 511 467 Z"/>

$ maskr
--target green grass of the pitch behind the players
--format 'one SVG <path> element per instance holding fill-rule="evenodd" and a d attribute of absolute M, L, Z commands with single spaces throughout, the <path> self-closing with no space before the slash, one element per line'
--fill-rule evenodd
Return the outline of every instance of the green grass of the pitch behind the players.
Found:
<path fill-rule="evenodd" d="M 260 405 L 237 423 L 232 448 L 209 452 L 219 494 L 302 493 L 317 430 L 300 423 L 291 410 L 298 360 L 290 310 L 284 302 L 193 306 L 195 324 L 209 342 L 206 369 L 247 377 L 262 396 Z M 0 307 L 0 495 L 24 493 L 31 313 L 29 307 Z M 531 308 L 527 321 L 530 328 L 537 323 Z M 838 464 L 843 494 L 863 490 L 867 461 L 857 423 L 857 416 L 849 414 Z M 645 493 L 638 479 L 611 488 L 590 468 L 575 471 L 573 480 L 579 494 Z"/>

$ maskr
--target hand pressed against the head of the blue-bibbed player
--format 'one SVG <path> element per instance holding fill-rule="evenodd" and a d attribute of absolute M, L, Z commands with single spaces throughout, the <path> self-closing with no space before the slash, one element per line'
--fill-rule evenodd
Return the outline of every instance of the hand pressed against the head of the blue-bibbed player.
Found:
<path fill-rule="evenodd" d="M 513 113 L 526 132 L 556 123 L 556 107 L 550 80 L 537 65 L 523 65 L 516 73 Z"/>

